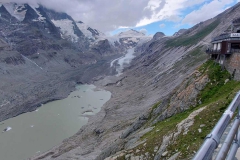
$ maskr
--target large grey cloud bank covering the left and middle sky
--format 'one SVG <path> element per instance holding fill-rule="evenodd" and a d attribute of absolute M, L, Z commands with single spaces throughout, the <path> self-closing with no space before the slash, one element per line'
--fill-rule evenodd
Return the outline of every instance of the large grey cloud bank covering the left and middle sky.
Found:
<path fill-rule="evenodd" d="M 0 0 L 1 2 L 39 3 L 56 11 L 66 12 L 103 32 L 120 26 L 134 27 L 143 17 L 150 17 L 154 7 L 149 0 Z M 158 0 L 159 1 L 159 0 Z M 156 1 L 157 2 L 157 1 Z M 152 4 L 155 6 L 155 4 Z"/>

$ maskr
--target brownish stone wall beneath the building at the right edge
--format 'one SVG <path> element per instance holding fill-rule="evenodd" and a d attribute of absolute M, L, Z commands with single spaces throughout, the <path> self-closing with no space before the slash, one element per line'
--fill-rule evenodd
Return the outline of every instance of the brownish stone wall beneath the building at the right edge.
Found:
<path fill-rule="evenodd" d="M 227 57 L 224 66 L 231 74 L 236 69 L 234 79 L 240 80 L 240 53 L 233 53 L 230 57 Z"/>

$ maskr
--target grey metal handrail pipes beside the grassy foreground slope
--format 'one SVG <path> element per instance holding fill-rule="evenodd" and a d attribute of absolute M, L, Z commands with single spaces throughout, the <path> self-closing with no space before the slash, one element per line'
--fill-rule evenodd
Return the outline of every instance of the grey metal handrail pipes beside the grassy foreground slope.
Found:
<path fill-rule="evenodd" d="M 239 105 L 240 105 L 240 91 L 236 94 L 236 96 L 234 97 L 234 99 L 232 100 L 232 102 L 230 103 L 230 105 L 228 106 L 226 111 L 223 113 L 222 117 L 220 118 L 220 120 L 218 121 L 216 126 L 213 128 L 211 133 L 209 135 L 207 135 L 204 143 L 202 144 L 201 148 L 196 153 L 193 160 L 210 160 L 210 159 L 212 159 L 213 152 L 218 147 L 218 145 L 220 143 L 220 138 L 223 135 L 224 131 L 226 130 L 229 122 L 231 121 L 231 119 L 233 117 L 233 113 L 236 111 L 237 108 L 239 108 Z M 238 112 L 238 116 L 237 116 L 236 121 L 237 120 L 239 120 L 239 112 Z M 237 126 L 237 129 L 233 128 L 233 129 L 231 129 L 233 131 L 229 132 L 229 134 L 227 136 L 228 139 L 226 139 L 226 141 L 225 141 L 226 144 L 224 144 L 222 146 L 223 149 L 221 148 L 222 152 L 224 151 L 224 152 L 228 153 L 228 151 L 229 151 L 228 143 L 229 143 L 229 141 L 231 141 L 231 143 L 232 143 L 232 140 L 233 140 L 235 135 L 236 135 L 236 137 L 240 138 L 240 135 L 237 136 L 238 135 L 239 122 L 235 122 L 235 123 L 236 124 L 234 126 L 235 127 Z M 235 138 L 235 143 L 239 144 L 239 139 L 236 140 L 236 138 Z M 233 147 L 234 147 L 234 145 L 233 145 Z M 235 152 L 236 144 L 235 144 L 235 148 L 233 148 L 233 150 L 234 151 L 232 151 L 232 149 L 231 149 L 230 153 L 233 154 Z M 220 153 L 218 155 L 218 158 L 220 157 L 220 159 L 225 159 L 226 156 L 227 156 L 227 153 L 226 154 L 225 153 L 224 154 Z M 235 152 L 235 154 L 236 154 L 236 152 Z M 219 160 L 219 159 L 217 159 L 217 160 Z"/>

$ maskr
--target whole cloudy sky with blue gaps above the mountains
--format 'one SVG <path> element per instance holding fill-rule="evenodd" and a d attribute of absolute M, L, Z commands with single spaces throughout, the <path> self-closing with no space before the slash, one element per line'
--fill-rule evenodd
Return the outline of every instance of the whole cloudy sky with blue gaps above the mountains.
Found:
<path fill-rule="evenodd" d="M 134 28 L 171 35 L 216 16 L 240 0 L 0 0 L 4 1 L 40 3 L 105 33 Z"/>

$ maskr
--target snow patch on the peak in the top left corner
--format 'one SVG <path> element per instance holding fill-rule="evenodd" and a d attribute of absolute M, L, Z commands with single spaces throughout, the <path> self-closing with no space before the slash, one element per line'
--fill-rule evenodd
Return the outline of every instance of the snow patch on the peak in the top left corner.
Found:
<path fill-rule="evenodd" d="M 6 3 L 3 5 L 13 17 L 17 18 L 17 20 L 24 20 L 27 10 L 25 9 L 25 6 L 23 4 L 19 5 L 16 3 Z"/>

